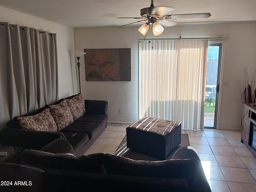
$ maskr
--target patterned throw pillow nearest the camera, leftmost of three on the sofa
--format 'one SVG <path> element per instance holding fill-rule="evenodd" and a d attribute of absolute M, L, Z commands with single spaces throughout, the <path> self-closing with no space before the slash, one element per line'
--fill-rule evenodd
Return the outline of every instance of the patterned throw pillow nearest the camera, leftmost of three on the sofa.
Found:
<path fill-rule="evenodd" d="M 35 115 L 17 117 L 17 120 L 20 127 L 23 129 L 36 131 L 57 131 L 56 123 L 48 108 Z"/>

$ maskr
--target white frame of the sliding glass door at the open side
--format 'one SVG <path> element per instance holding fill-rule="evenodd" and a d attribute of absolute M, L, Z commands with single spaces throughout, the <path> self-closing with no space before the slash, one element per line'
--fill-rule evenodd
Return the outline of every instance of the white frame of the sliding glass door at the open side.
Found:
<path fill-rule="evenodd" d="M 222 96 L 222 82 L 223 82 L 223 66 L 224 66 L 224 50 L 225 50 L 225 40 L 209 40 L 208 46 L 220 46 L 219 50 L 219 65 L 218 65 L 218 77 L 217 82 L 219 84 L 219 92 L 216 94 L 215 101 L 215 113 L 214 113 L 214 129 L 220 129 L 220 110 L 221 110 L 221 96 Z M 203 114 L 204 115 L 204 114 Z M 212 128 L 212 127 L 204 127 L 204 128 Z"/>

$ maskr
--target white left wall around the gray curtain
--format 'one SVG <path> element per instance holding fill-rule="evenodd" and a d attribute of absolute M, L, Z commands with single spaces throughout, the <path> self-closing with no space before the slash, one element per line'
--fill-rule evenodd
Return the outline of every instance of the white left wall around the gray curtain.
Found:
<path fill-rule="evenodd" d="M 77 93 L 74 28 L 23 14 L 0 6 L 0 22 L 28 26 L 57 35 L 59 98 Z"/>

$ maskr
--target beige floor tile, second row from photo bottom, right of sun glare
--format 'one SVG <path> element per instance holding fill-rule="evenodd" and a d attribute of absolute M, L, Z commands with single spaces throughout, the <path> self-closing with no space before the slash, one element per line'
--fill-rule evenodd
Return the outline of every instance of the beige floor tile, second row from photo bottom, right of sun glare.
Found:
<path fill-rule="evenodd" d="M 220 169 L 227 181 L 256 184 L 248 169 L 234 167 L 220 167 Z"/>

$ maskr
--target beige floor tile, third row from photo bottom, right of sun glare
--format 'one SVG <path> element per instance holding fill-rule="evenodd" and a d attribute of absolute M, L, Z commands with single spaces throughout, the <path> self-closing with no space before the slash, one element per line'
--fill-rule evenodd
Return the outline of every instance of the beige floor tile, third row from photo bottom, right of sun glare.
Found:
<path fill-rule="evenodd" d="M 238 156 L 215 155 L 215 158 L 218 164 L 223 167 L 246 168 Z"/>

